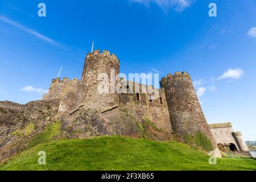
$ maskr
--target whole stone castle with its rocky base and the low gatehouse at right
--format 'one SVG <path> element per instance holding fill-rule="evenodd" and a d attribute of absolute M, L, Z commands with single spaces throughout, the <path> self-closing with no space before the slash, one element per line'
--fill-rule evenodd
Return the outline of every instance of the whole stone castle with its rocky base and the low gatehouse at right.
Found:
<path fill-rule="evenodd" d="M 107 88 L 127 92 L 99 92 L 101 74 L 112 80 Z M 153 92 L 142 92 L 144 88 Z M 119 59 L 109 51 L 88 53 L 81 80 L 53 79 L 42 100 L 26 105 L 0 102 L 0 161 L 26 149 L 53 123 L 60 125 L 55 138 L 124 135 L 187 142 L 200 134 L 218 157 L 220 150 L 248 151 L 230 123 L 208 125 L 188 73 L 170 73 L 160 80 L 160 89 L 152 89 L 119 77 Z"/>

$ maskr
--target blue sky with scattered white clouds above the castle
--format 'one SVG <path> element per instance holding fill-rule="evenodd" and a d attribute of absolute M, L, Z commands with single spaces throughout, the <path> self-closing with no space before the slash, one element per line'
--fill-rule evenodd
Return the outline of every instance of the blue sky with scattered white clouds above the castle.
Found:
<path fill-rule="evenodd" d="M 39 100 L 60 67 L 80 78 L 94 41 L 122 73 L 189 72 L 208 122 L 256 140 L 255 27 L 254 0 L 0 0 L 0 100 Z"/>

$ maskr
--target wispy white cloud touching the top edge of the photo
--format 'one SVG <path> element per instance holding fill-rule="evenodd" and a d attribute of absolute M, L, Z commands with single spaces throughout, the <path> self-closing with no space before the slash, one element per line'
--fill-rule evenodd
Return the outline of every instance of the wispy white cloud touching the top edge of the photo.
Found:
<path fill-rule="evenodd" d="M 177 12 L 182 12 L 192 4 L 193 0 L 129 0 L 130 2 L 142 3 L 149 6 L 150 3 L 155 3 L 163 9 L 173 8 Z"/>

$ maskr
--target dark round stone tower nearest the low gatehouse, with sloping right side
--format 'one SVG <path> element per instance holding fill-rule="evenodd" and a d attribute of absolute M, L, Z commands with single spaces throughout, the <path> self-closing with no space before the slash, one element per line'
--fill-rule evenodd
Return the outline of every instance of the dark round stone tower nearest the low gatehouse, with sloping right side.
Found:
<path fill-rule="evenodd" d="M 221 157 L 188 73 L 170 73 L 162 78 L 160 85 L 166 94 L 174 133 L 184 139 L 187 134 L 193 137 L 201 131 L 211 140 L 216 155 Z"/>

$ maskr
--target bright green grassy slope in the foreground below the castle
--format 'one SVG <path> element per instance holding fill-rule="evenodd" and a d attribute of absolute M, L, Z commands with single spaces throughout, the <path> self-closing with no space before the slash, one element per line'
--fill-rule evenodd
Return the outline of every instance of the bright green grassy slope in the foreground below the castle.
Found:
<path fill-rule="evenodd" d="M 46 165 L 38 152 L 46 151 Z M 1 164 L 0 170 L 256 170 L 254 159 L 217 159 L 177 142 L 125 137 L 56 140 L 39 144 Z"/>

